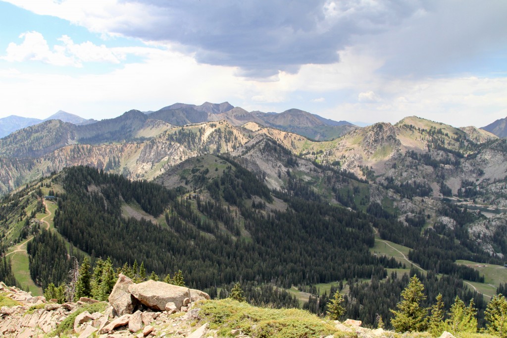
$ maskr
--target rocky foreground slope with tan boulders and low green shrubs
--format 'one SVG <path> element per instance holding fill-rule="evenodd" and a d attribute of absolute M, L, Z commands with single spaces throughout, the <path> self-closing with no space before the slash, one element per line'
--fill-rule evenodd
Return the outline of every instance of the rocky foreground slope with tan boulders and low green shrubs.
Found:
<path fill-rule="evenodd" d="M 6 302 L 7 299 L 7 302 Z M 209 296 L 199 290 L 179 287 L 164 282 L 147 281 L 134 284 L 128 277 L 120 274 L 109 301 L 99 302 L 94 299 L 82 297 L 76 302 L 56 303 L 55 299 L 46 300 L 43 296 L 33 297 L 29 292 L 15 287 L 8 287 L 0 282 L 0 301 L 7 306 L 0 310 L 0 335 L 2 337 L 221 337 L 231 336 L 249 338 L 245 330 L 259 331 L 263 324 L 259 321 L 262 308 L 248 305 L 239 306 L 239 303 L 226 299 L 236 310 L 220 312 L 220 320 L 210 320 L 206 310 L 211 307 L 220 308 L 222 301 L 207 300 Z M 201 301 L 203 301 L 201 303 Z M 213 302 L 216 302 L 214 304 Z M 207 307 L 206 307 L 207 305 Z M 203 309 L 201 309 L 203 308 Z M 241 311 L 251 308 L 247 315 Z M 232 309 L 232 308 L 231 308 Z M 265 310 L 265 309 L 264 309 Z M 268 310 L 281 311 L 281 310 Z M 360 321 L 322 320 L 301 310 L 286 310 L 301 312 L 303 317 L 296 321 L 306 321 L 308 316 L 315 317 L 307 328 L 311 334 L 298 331 L 276 332 L 271 327 L 269 332 L 257 332 L 255 336 L 262 337 L 355 337 L 355 338 L 410 338 L 430 337 L 427 332 L 421 333 L 395 333 L 381 328 L 368 329 L 361 327 Z M 255 314 L 257 312 L 257 315 Z M 216 314 L 215 314 L 216 315 Z M 234 316 L 241 320 L 234 319 Z M 287 323 L 295 320 L 295 314 L 287 318 Z M 255 320 L 255 317 L 259 317 Z M 275 315 L 274 315 L 275 317 Z M 306 317 L 306 318 L 304 318 Z M 253 321 L 251 326 L 245 325 L 244 320 Z M 276 322 L 273 320 L 272 323 Z M 313 323 L 313 324 L 312 324 Z M 256 330 L 256 326 L 257 330 Z M 285 325 L 284 325 L 285 326 Z M 297 326 L 297 325 L 296 325 Z M 316 327 L 325 327 L 320 334 L 315 332 Z M 329 335 L 329 331 L 334 334 Z M 225 329 L 225 331 L 224 331 Z M 318 331 L 318 330 L 317 330 Z M 224 333 L 225 332 L 225 333 Z M 453 338 L 444 332 L 442 337 Z M 441 338 L 442 338 L 441 337 Z"/>

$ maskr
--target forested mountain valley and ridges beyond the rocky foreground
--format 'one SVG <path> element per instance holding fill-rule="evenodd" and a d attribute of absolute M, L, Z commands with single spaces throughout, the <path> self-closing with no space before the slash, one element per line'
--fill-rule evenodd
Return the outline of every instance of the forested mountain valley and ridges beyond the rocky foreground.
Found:
<path fill-rule="evenodd" d="M 505 140 L 414 116 L 344 129 L 229 106 L 51 120 L 1 139 L 0 248 L 19 286 L 41 294 L 84 257 L 136 261 L 212 296 L 241 281 L 252 303 L 265 292 L 319 315 L 338 290 L 369 326 L 375 313 L 390 325 L 387 294 L 409 275 L 428 307 L 438 291 L 482 314 L 503 290 Z M 317 137 L 321 123 L 342 129 Z"/>

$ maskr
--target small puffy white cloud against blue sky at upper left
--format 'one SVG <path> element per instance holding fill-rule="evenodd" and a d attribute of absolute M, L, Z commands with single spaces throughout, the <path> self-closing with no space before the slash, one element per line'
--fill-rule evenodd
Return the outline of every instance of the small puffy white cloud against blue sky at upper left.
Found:
<path fill-rule="evenodd" d="M 125 56 L 115 53 L 104 45 L 97 46 L 89 41 L 75 44 L 72 39 L 64 35 L 58 39 L 62 44 L 51 49 L 43 35 L 37 31 L 22 33 L 19 38 L 24 39 L 19 45 L 10 43 L 7 54 L 0 57 L 10 62 L 41 61 L 57 66 L 82 67 L 83 62 L 120 63 Z"/>

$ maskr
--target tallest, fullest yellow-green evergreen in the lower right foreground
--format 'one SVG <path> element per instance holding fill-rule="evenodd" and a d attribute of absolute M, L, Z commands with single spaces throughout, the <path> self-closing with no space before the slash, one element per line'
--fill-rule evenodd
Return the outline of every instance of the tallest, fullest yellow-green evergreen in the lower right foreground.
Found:
<path fill-rule="evenodd" d="M 414 275 L 402 291 L 403 300 L 397 304 L 398 310 L 390 310 L 394 315 L 391 324 L 397 332 L 424 331 L 426 328 L 427 309 L 421 307 L 421 302 L 426 299 L 423 291 L 424 285 Z"/>

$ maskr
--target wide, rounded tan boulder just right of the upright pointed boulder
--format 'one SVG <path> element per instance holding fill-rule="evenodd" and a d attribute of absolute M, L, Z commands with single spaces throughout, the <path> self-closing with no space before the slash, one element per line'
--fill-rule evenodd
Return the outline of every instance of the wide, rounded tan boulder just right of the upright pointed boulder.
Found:
<path fill-rule="evenodd" d="M 190 298 L 189 288 L 153 280 L 129 285 L 128 291 L 143 305 L 158 311 L 164 311 L 169 302 L 179 309 L 183 306 L 183 300 Z"/>

